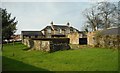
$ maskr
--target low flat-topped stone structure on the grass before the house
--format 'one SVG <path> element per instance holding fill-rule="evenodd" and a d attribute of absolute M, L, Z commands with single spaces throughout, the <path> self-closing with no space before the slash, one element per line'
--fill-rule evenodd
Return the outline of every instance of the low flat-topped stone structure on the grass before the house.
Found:
<path fill-rule="evenodd" d="M 58 50 L 70 49 L 69 38 L 32 38 L 26 39 L 24 43 L 32 50 L 41 50 L 46 52 L 54 52 Z"/>

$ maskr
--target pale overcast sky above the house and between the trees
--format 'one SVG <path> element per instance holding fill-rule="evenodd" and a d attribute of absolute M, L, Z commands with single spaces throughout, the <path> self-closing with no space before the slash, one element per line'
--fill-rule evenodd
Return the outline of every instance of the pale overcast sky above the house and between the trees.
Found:
<path fill-rule="evenodd" d="M 60 1 L 60 0 L 59 0 Z M 82 30 L 85 23 L 83 12 L 92 6 L 94 0 L 2 0 L 2 8 L 15 16 L 18 21 L 17 32 L 22 30 L 41 30 L 53 21 L 55 24 L 66 24 Z M 100 0 L 99 0 L 100 1 Z M 103 1 L 103 0 L 102 0 Z M 112 1 L 112 0 L 110 0 Z M 118 0 L 114 0 L 118 1 Z"/>

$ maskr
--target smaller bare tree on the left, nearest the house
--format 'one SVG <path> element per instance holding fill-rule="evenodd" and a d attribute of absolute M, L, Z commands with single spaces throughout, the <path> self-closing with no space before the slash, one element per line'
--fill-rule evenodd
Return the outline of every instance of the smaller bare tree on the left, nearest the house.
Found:
<path fill-rule="evenodd" d="M 101 19 L 99 18 L 100 15 L 96 6 L 86 9 L 84 11 L 84 16 L 87 18 L 87 27 L 91 28 L 92 31 L 98 30 L 99 25 L 101 24 Z"/>

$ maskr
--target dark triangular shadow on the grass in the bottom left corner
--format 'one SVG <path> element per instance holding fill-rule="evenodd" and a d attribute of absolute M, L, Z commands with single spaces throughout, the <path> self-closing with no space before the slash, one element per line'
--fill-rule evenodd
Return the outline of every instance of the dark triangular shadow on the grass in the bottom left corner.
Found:
<path fill-rule="evenodd" d="M 2 71 L 48 71 L 2 56 Z"/>

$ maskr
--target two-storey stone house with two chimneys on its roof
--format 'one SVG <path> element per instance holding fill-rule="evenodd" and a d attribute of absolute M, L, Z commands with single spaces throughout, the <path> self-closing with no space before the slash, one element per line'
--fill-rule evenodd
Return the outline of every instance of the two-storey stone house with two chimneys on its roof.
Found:
<path fill-rule="evenodd" d="M 64 25 L 57 25 L 51 22 L 51 26 L 46 26 L 41 30 L 45 38 L 52 37 L 67 37 L 68 34 L 79 32 L 79 30 L 70 26 L 70 23 Z"/>

